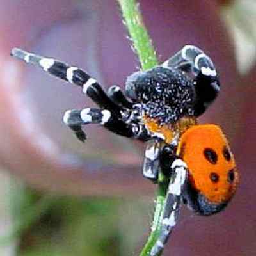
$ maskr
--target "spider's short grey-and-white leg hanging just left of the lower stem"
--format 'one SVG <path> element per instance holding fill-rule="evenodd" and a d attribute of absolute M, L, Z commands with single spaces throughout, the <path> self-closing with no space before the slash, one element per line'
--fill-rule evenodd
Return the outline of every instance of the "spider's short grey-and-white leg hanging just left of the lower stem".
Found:
<path fill-rule="evenodd" d="M 147 142 L 145 150 L 145 159 L 143 163 L 143 176 L 156 182 L 159 171 L 159 154 L 161 151 L 161 142 L 150 140 Z"/>

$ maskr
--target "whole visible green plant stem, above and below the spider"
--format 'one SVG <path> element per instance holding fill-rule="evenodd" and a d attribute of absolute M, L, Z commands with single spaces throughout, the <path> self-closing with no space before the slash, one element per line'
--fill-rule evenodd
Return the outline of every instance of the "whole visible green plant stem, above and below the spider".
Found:
<path fill-rule="evenodd" d="M 143 19 L 139 10 L 138 3 L 135 0 L 117 0 L 121 6 L 124 17 L 124 24 L 127 26 L 129 35 L 131 36 L 133 48 L 138 54 L 142 70 L 147 70 L 157 65 L 156 51 L 152 46 L 147 29 L 143 24 Z M 159 170 L 160 172 L 160 170 Z M 166 189 L 168 183 L 162 173 L 159 173 L 158 189 L 156 196 L 156 207 L 154 212 L 154 220 L 148 241 L 145 244 L 140 256 L 150 255 L 152 247 L 156 243 L 161 231 L 161 223 L 163 220 L 163 210 L 166 201 Z M 159 253 L 160 255 L 161 253 Z"/>

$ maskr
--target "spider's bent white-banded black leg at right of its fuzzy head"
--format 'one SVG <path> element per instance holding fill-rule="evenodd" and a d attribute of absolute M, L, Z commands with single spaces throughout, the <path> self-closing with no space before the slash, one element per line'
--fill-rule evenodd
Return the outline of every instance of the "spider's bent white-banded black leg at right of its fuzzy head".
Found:
<path fill-rule="evenodd" d="M 163 67 L 178 68 L 192 77 L 196 91 L 196 116 L 204 113 L 220 92 L 220 81 L 211 58 L 194 45 L 185 45 L 165 61 Z"/>

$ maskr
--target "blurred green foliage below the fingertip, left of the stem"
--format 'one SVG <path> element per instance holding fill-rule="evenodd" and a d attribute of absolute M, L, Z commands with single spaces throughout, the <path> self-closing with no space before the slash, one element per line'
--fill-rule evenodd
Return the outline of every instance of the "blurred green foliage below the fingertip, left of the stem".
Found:
<path fill-rule="evenodd" d="M 45 195 L 17 182 L 11 191 L 14 229 L 0 241 L 15 239 L 15 255 L 131 255 L 147 232 L 148 202 Z"/>

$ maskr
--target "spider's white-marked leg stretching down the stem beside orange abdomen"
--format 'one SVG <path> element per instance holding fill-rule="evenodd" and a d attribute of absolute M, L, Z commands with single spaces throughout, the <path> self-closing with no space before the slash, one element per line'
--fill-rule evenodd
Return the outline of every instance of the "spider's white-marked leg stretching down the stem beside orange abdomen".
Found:
<path fill-rule="evenodd" d="M 173 228 L 177 223 L 180 212 L 181 196 L 186 186 L 188 167 L 181 159 L 173 161 L 171 166 L 171 178 L 164 205 L 161 232 L 156 244 L 153 246 L 150 256 L 157 256 L 163 250 Z"/>

